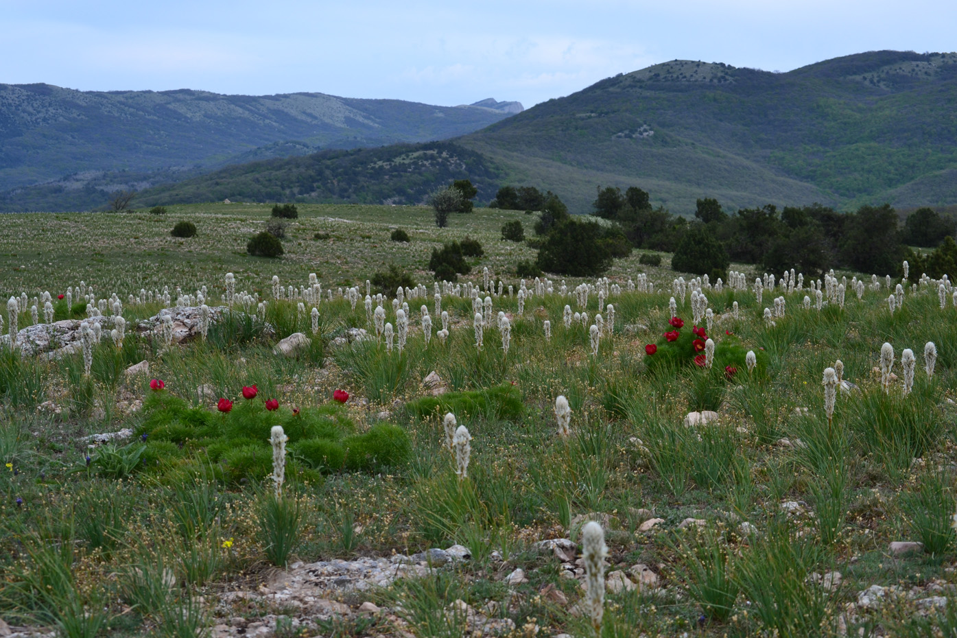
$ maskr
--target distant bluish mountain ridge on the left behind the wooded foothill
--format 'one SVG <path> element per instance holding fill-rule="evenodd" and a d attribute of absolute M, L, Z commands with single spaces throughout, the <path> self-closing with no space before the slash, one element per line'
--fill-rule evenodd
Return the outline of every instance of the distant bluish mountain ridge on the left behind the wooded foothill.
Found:
<path fill-rule="evenodd" d="M 225 96 L 0 84 L 0 190 L 90 170 L 265 159 L 277 156 L 270 154 L 279 150 L 275 144 L 290 141 L 315 152 L 442 140 L 521 111 L 514 104 L 486 99 L 474 107 L 448 107 L 321 93 Z"/>

